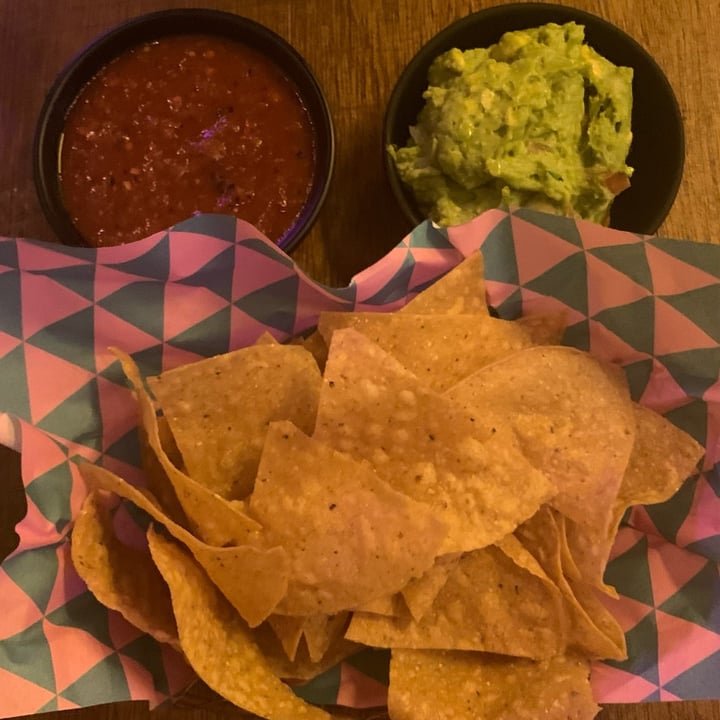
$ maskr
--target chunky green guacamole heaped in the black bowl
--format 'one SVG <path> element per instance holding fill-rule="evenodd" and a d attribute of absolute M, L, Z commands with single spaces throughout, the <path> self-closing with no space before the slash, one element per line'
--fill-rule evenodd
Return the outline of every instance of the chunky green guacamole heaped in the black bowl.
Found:
<path fill-rule="evenodd" d="M 389 149 L 428 217 L 521 205 L 607 224 L 632 174 L 632 69 L 584 40 L 551 23 L 433 62 L 410 141 Z"/>

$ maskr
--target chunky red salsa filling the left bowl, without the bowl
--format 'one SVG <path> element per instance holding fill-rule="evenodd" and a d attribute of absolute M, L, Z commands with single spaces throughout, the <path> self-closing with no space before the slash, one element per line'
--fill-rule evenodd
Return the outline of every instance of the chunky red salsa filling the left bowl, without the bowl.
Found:
<path fill-rule="evenodd" d="M 314 142 L 273 62 L 229 39 L 168 36 L 130 49 L 83 89 L 64 128 L 63 198 L 95 246 L 203 212 L 278 241 L 308 198 Z"/>

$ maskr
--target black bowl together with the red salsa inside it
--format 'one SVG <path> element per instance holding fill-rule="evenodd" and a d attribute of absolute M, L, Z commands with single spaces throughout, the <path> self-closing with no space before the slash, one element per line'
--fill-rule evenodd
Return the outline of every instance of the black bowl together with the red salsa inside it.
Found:
<path fill-rule="evenodd" d="M 228 18 L 252 32 L 233 34 Z M 35 162 L 64 242 L 117 245 L 223 213 L 290 249 L 327 191 L 333 133 L 309 69 L 274 33 L 229 13 L 164 11 L 111 31 L 58 79 Z"/>

